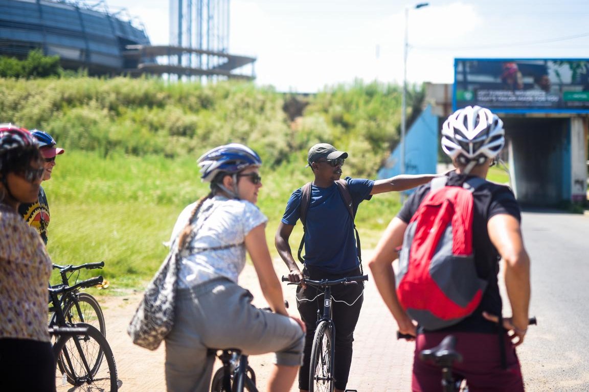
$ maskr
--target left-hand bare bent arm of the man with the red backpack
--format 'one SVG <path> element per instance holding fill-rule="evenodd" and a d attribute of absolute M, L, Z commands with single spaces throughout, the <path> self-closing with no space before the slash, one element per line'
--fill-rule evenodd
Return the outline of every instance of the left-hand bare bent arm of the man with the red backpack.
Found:
<path fill-rule="evenodd" d="M 397 258 L 397 247 L 403 243 L 403 234 L 407 224 L 398 217 L 394 217 L 380 237 L 375 252 L 370 257 L 368 267 L 372 272 L 372 279 L 376 284 L 380 296 L 391 311 L 399 326 L 399 332 L 416 336 L 416 328 L 413 321 L 397 299 L 395 290 L 395 272 L 393 261 Z"/>

